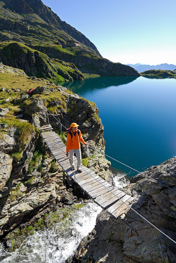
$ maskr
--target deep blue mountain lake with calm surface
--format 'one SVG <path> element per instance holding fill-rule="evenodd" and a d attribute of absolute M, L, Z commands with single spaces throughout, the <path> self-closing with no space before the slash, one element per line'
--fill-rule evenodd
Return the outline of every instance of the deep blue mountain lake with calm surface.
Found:
<path fill-rule="evenodd" d="M 98 77 L 59 84 L 96 103 L 105 154 L 138 171 L 176 155 L 176 79 Z M 137 174 L 107 159 L 117 172 Z"/>

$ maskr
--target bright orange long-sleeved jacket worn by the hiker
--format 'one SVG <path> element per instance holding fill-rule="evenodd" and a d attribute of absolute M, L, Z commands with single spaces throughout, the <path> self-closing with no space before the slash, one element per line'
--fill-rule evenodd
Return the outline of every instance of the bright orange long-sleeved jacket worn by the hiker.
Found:
<path fill-rule="evenodd" d="M 78 130 L 77 130 L 78 131 Z M 71 133 L 73 134 L 73 137 L 71 139 L 70 133 L 67 135 L 67 145 L 66 145 L 66 152 L 68 153 L 69 150 L 79 149 L 81 147 L 79 140 L 85 144 L 84 139 L 82 138 L 81 131 L 79 130 L 79 136 L 76 131 L 76 137 L 73 134 L 72 130 Z"/>

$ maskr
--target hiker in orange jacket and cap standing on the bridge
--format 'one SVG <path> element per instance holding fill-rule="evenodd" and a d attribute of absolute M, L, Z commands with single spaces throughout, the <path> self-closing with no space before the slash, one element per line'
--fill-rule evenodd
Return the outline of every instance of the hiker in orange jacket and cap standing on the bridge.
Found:
<path fill-rule="evenodd" d="M 79 125 L 77 125 L 76 123 L 71 123 L 70 125 L 69 133 L 67 135 L 66 156 L 68 157 L 70 155 L 70 163 L 72 168 L 74 169 L 75 164 L 73 163 L 73 155 L 74 152 L 76 153 L 77 171 L 81 173 L 81 145 L 79 141 L 81 141 L 86 146 L 87 143 L 85 143 L 84 139 L 82 138 L 81 131 L 77 129 L 78 126 Z"/>

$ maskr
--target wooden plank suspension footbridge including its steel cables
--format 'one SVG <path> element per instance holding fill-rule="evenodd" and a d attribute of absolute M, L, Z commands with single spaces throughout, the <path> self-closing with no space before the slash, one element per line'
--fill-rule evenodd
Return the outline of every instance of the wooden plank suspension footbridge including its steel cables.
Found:
<path fill-rule="evenodd" d="M 48 112 L 49 110 L 46 109 L 47 112 L 47 117 L 48 117 Z M 50 112 L 49 112 L 50 113 Z M 51 115 L 53 115 L 52 113 L 50 113 Z M 33 115 L 33 113 L 32 113 Z M 53 117 L 55 118 L 55 116 L 53 115 Z M 55 118 L 56 119 L 56 118 Z M 58 119 L 56 119 L 59 123 L 60 121 Z M 81 164 L 80 168 L 83 170 L 82 173 L 79 172 L 75 172 L 70 164 L 70 158 L 66 157 L 66 146 L 65 144 L 62 142 L 61 140 L 61 136 L 59 137 L 54 131 L 53 128 L 51 126 L 48 127 L 44 127 L 41 128 L 39 123 L 35 122 L 39 128 L 39 131 L 41 132 L 41 135 L 43 137 L 43 139 L 45 140 L 46 144 L 48 145 L 49 150 L 51 151 L 51 153 L 54 155 L 54 158 L 56 159 L 56 161 L 59 163 L 59 165 L 63 168 L 63 170 L 65 171 L 65 173 L 74 180 L 74 182 L 85 192 L 87 193 L 90 198 L 92 200 L 94 200 L 94 202 L 96 204 L 98 204 L 99 206 L 101 206 L 102 209 L 106 209 L 107 213 L 112 215 L 115 218 L 120 218 L 122 221 L 124 221 L 128 226 L 130 226 L 124 219 L 121 218 L 121 215 L 123 214 L 123 211 L 125 211 L 125 209 L 128 207 L 131 210 L 133 210 L 137 215 L 139 215 L 143 220 L 145 220 L 148 224 L 151 225 L 151 227 L 148 228 L 155 228 L 157 229 L 159 232 L 161 232 L 161 234 L 163 234 L 164 236 L 166 236 L 168 239 L 170 239 L 171 241 L 173 241 L 175 244 L 176 242 L 170 238 L 168 235 L 166 235 L 163 231 L 161 231 L 156 225 L 153 225 L 152 222 L 150 222 L 146 217 L 144 217 L 143 215 L 139 214 L 136 210 L 134 210 L 132 208 L 132 204 L 133 202 L 137 204 L 137 202 L 134 200 L 134 198 L 130 195 L 127 195 L 126 193 L 124 193 L 123 191 L 115 188 L 114 186 L 112 186 L 111 184 L 109 184 L 107 181 L 105 181 L 104 179 L 102 179 L 100 176 L 96 175 L 94 173 L 94 171 L 92 171 L 91 166 L 90 169 L 83 166 Z M 48 123 L 49 123 L 49 119 L 48 119 Z M 61 130 L 62 130 L 62 126 L 67 129 L 63 124 L 61 124 Z M 91 149 L 91 146 L 89 146 Z M 96 150 L 96 149 L 94 149 Z M 97 151 L 97 150 L 96 150 Z M 99 151 L 100 152 L 100 151 Z M 89 151 L 88 151 L 89 153 Z M 100 152 L 102 153 L 102 152 Z M 104 153 L 102 153 L 104 154 Z M 105 156 L 108 156 L 106 154 L 104 154 Z M 111 156 L 108 156 L 109 158 L 121 163 L 120 161 L 112 158 Z M 75 164 L 77 165 L 77 160 L 74 157 Z M 90 161 L 90 160 L 89 160 Z M 123 164 L 123 163 L 121 163 Z M 130 166 L 123 164 L 129 168 L 131 168 Z M 133 168 L 131 168 L 133 169 Z M 134 171 L 137 171 L 135 169 L 133 169 Z M 161 181 L 157 181 L 153 178 L 151 178 L 150 176 L 137 171 L 138 173 L 143 174 L 145 177 L 152 179 L 154 182 L 161 184 L 162 186 L 164 186 L 165 188 L 171 189 L 173 191 L 176 192 L 176 190 L 174 188 L 170 188 L 169 186 L 165 185 L 164 183 L 162 183 Z M 149 210 L 148 210 L 149 211 Z M 156 214 L 154 212 L 149 211 L 150 213 Z M 159 216 L 159 215 L 158 215 Z M 172 224 L 172 223 L 171 223 Z M 131 227 L 131 234 L 132 231 L 136 231 L 136 229 L 133 229 L 132 226 Z M 142 230 L 142 229 L 140 229 Z M 137 233 L 138 235 L 138 233 Z"/>

